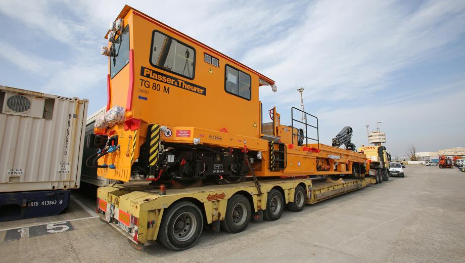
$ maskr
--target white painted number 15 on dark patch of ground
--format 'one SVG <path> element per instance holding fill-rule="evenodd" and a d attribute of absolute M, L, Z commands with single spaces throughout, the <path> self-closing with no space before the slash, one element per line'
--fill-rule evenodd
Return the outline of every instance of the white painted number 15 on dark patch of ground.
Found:
<path fill-rule="evenodd" d="M 51 223 L 40 226 L 10 229 L 5 234 L 4 241 L 50 235 L 74 230 L 70 222 Z"/>

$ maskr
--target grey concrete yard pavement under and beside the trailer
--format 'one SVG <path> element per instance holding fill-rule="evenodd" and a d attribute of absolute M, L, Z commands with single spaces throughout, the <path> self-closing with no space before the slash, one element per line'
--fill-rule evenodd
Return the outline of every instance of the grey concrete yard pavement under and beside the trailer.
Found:
<path fill-rule="evenodd" d="M 238 234 L 204 231 L 182 252 L 145 251 L 73 193 L 57 216 L 0 222 L 2 262 L 465 262 L 465 172 L 407 166 L 391 178 Z"/>

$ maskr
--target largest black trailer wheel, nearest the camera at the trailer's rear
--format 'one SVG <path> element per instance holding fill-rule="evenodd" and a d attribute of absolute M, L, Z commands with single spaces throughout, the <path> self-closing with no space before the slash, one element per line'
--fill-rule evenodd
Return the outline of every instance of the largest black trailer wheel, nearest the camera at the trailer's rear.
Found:
<path fill-rule="evenodd" d="M 203 215 L 197 205 L 187 201 L 174 203 L 163 213 L 158 240 L 168 249 L 181 251 L 194 246 L 202 228 Z"/>

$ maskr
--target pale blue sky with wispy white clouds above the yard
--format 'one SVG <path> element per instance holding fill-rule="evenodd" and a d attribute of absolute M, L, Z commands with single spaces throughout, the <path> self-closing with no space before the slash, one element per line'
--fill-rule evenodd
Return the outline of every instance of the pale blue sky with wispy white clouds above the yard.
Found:
<path fill-rule="evenodd" d="M 95 4 L 97 3 L 97 4 Z M 0 84 L 106 102 L 110 21 L 124 4 L 276 81 L 290 124 L 305 87 L 320 141 L 346 125 L 357 146 L 382 121 L 393 156 L 465 146 L 465 1 L 2 1 Z M 167 12 L 169 11 L 169 12 Z"/>

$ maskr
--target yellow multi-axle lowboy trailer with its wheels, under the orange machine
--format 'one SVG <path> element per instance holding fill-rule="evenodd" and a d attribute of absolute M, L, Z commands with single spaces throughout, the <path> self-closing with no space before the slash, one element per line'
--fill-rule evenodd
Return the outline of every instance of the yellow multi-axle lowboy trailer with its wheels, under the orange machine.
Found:
<path fill-rule="evenodd" d="M 101 218 L 142 249 L 159 240 L 172 250 L 192 247 L 204 225 L 229 233 L 245 230 L 251 220 L 277 220 L 284 206 L 301 211 L 305 204 L 338 196 L 375 184 L 374 178 L 286 178 L 210 185 L 187 189 L 154 189 L 147 183 L 128 183 L 98 189 Z"/>

